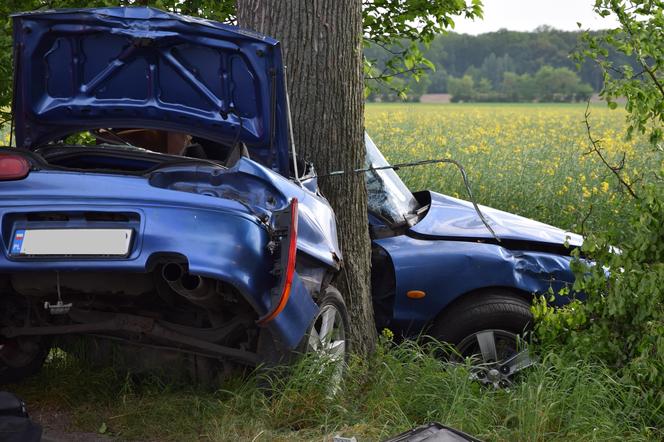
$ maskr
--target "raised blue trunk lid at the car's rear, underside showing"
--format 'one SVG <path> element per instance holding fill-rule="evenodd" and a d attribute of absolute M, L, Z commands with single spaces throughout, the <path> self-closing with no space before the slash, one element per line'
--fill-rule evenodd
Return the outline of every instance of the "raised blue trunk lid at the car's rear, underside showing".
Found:
<path fill-rule="evenodd" d="M 18 146 L 92 128 L 152 128 L 239 140 L 288 172 L 276 40 L 147 7 L 13 18 Z"/>

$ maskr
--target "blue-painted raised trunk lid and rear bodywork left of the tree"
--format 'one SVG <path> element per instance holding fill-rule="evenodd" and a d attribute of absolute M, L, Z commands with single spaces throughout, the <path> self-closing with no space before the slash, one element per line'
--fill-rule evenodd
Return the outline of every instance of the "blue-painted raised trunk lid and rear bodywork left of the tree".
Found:
<path fill-rule="evenodd" d="M 180 164 L 144 176 L 47 168 L 21 181 L 0 182 L 0 271 L 145 272 L 156 257 L 181 256 L 191 273 L 231 284 L 262 316 L 272 308 L 277 283 L 277 257 L 266 247 L 268 226 L 273 212 L 292 198 L 300 208 L 298 257 L 331 272 L 339 269 L 342 254 L 329 204 L 315 181 L 300 187 L 284 178 L 290 158 L 276 40 L 145 7 L 13 18 L 19 147 L 36 150 L 99 127 L 153 128 L 225 145 L 240 141 L 252 160 L 242 158 L 231 168 Z M 143 170 L 148 160 L 83 155 L 76 161 Z M 124 223 L 135 235 L 127 258 L 15 255 L 15 229 L 108 227 L 81 215 L 90 211 L 132 215 Z M 29 221 L 34 212 L 70 216 L 66 222 Z M 289 302 L 269 327 L 294 347 L 317 310 L 296 274 Z"/>

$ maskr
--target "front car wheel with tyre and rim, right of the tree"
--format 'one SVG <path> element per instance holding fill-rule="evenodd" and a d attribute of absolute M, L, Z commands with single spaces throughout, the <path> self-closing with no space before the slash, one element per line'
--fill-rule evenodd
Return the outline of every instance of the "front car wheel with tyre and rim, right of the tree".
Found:
<path fill-rule="evenodd" d="M 461 357 L 473 360 L 474 379 L 506 388 L 533 363 L 523 340 L 532 322 L 525 299 L 495 290 L 462 298 L 445 309 L 431 335 L 454 344 Z"/>

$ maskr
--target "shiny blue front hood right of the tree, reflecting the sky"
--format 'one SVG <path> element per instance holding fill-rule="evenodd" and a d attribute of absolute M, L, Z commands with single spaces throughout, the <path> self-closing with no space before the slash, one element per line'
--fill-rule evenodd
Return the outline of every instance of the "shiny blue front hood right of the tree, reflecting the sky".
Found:
<path fill-rule="evenodd" d="M 472 203 L 435 192 L 429 193 L 431 207 L 411 231 L 428 237 L 448 239 L 493 239 Z M 539 221 L 486 206 L 480 206 L 480 210 L 501 240 L 522 245 L 530 243 L 559 246 L 567 243 L 571 247 L 580 247 L 583 243 L 581 235 Z"/>

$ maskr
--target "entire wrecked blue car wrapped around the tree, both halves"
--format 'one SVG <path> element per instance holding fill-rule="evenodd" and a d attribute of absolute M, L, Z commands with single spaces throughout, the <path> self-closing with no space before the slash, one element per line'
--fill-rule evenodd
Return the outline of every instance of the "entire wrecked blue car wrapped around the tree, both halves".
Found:
<path fill-rule="evenodd" d="M 294 351 L 343 362 L 336 221 L 289 149 L 278 42 L 142 7 L 13 20 L 0 383 L 54 345 L 200 377 Z M 573 282 L 581 238 L 481 207 L 489 228 L 366 148 L 377 328 L 451 342 L 484 360 L 478 379 L 508 382 L 530 363 L 532 296 Z"/>

